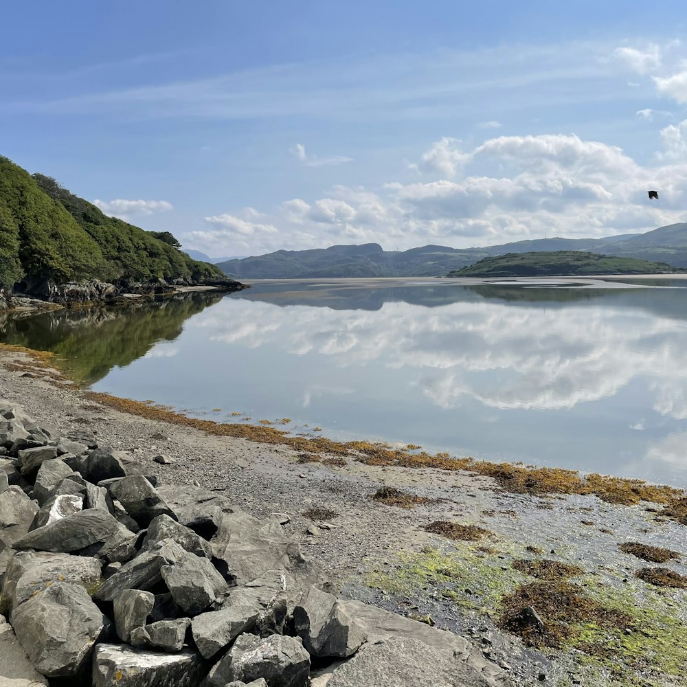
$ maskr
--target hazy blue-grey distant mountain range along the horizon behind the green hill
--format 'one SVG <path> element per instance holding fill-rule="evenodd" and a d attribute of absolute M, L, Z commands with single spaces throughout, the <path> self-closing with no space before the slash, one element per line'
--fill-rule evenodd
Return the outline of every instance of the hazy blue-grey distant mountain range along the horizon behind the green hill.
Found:
<path fill-rule="evenodd" d="M 687 267 L 687 223 L 660 227 L 645 234 L 607 238 L 539 238 L 482 248 L 429 245 L 407 251 L 385 251 L 379 244 L 367 243 L 307 251 L 282 250 L 216 264 L 227 276 L 235 279 L 440 277 L 491 256 L 562 250 Z"/>

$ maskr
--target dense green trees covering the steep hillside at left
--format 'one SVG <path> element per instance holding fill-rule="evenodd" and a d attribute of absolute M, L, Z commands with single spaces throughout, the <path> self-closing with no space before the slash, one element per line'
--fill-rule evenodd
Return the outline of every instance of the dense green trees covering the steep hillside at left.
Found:
<path fill-rule="evenodd" d="M 169 232 L 145 232 L 0 157 L 0 286 L 222 278 L 213 265 L 179 251 Z"/>

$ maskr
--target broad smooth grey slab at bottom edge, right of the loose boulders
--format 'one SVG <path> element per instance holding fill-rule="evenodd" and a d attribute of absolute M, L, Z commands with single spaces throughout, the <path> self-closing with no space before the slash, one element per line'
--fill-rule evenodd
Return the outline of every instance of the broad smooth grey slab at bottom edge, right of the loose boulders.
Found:
<path fill-rule="evenodd" d="M 365 646 L 339 666 L 327 687 L 490 687 L 490 683 L 460 662 L 424 642 L 407 637 Z"/>

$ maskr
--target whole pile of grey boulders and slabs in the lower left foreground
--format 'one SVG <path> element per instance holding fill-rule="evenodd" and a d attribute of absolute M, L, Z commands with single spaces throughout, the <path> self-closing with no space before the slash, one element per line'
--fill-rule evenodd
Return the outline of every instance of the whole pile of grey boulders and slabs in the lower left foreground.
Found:
<path fill-rule="evenodd" d="M 505 684 L 464 638 L 337 598 L 277 517 L 152 466 L 0 401 L 0 685 Z"/>

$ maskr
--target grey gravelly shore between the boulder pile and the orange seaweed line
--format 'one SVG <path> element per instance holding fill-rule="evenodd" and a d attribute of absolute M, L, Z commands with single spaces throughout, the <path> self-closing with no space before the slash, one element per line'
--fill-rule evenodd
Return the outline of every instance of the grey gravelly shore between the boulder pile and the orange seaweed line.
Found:
<path fill-rule="evenodd" d="M 31 376 L 22 376 L 27 368 L 11 369 L 27 362 L 23 354 L 0 348 L 0 397 L 65 431 L 87 427 L 101 444 L 132 451 L 142 460 L 166 453 L 174 462 L 158 466 L 164 482 L 196 480 L 253 515 L 288 515 L 286 530 L 304 543 L 343 596 L 431 616 L 439 627 L 471 637 L 513 675 L 515 684 L 541 684 L 540 675 L 546 684 L 561 686 L 579 684 L 574 682 L 579 676 L 581 684 L 642 684 L 624 682 L 625 675 L 621 682 L 608 661 L 598 657 L 591 664 L 580 662 L 579 651 L 523 648 L 519 638 L 496 627 L 499 599 L 528 581 L 512 568 L 516 559 L 532 557 L 527 547 L 580 565 L 585 570 L 583 585 L 602 588 L 602 596 L 626 604 L 631 600 L 649 610 L 660 605 L 675 622 L 666 624 L 668 616 L 656 620 L 649 610 L 642 611 L 642 618 L 661 625 L 670 665 L 680 667 L 671 668 L 670 675 L 665 662 L 653 659 L 655 665 L 651 664 L 649 656 L 656 651 L 652 638 L 646 646 L 634 647 L 635 654 L 646 653 L 647 658 L 642 658 L 641 671 L 632 668 L 629 673 L 643 673 L 644 684 L 662 687 L 677 685 L 687 675 L 687 653 L 673 655 L 677 649 L 670 648 L 671 642 L 684 644 L 678 636 L 687 627 L 686 592 L 651 588 L 636 580 L 633 572 L 646 564 L 617 548 L 623 541 L 642 541 L 684 551 L 685 526 L 657 517 L 658 508 L 646 510 L 651 504 L 618 506 L 592 496 L 504 493 L 491 477 L 475 473 L 371 466 L 353 460 L 340 467 L 300 463 L 299 452 L 291 447 L 211 436 L 126 414 L 63 386 L 58 373 L 37 368 L 28 373 Z M 432 500 L 413 509 L 385 506 L 370 499 L 381 486 Z M 315 522 L 313 529 L 313 521 L 302 515 L 310 508 L 337 515 L 325 526 Z M 423 529 L 442 520 L 480 526 L 490 534 L 482 541 L 450 542 Z M 315 534 L 308 534 L 308 529 Z M 447 567 L 455 569 L 453 577 L 444 574 Z M 669 567 L 687 574 L 682 562 Z M 621 658 L 631 661 L 629 655 Z"/>

